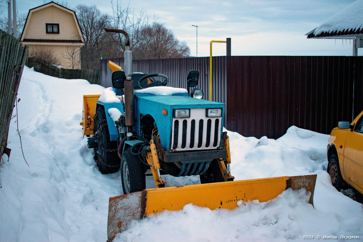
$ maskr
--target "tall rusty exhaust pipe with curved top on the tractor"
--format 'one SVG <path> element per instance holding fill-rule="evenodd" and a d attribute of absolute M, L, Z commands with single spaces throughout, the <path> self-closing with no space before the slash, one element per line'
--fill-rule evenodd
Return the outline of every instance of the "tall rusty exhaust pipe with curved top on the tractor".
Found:
<path fill-rule="evenodd" d="M 130 47 L 130 36 L 122 29 L 109 29 L 105 28 L 106 32 L 121 33 L 126 37 L 126 46 L 124 55 L 124 71 L 126 75 L 126 81 L 124 82 L 125 92 L 125 123 L 128 127 L 128 132 L 132 132 L 132 126 L 135 125 L 135 107 L 134 107 L 134 82 L 131 80 L 132 75 L 132 51 Z"/>

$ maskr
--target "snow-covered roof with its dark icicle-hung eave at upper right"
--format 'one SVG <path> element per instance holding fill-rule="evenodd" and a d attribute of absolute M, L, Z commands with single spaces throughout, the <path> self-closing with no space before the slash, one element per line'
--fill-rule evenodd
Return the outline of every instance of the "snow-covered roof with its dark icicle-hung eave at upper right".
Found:
<path fill-rule="evenodd" d="M 363 0 L 357 0 L 343 8 L 305 35 L 307 35 L 307 38 L 363 36 Z"/>

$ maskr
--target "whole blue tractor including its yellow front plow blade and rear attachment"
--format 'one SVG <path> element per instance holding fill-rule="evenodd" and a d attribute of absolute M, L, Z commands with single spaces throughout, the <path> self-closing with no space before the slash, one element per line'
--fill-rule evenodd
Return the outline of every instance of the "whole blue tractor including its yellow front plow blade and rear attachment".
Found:
<path fill-rule="evenodd" d="M 113 98 L 83 96 L 83 134 L 102 173 L 121 168 L 123 195 L 109 198 L 108 241 L 139 220 L 184 205 L 236 208 L 238 201 L 268 201 L 282 191 L 304 188 L 313 194 L 317 175 L 233 181 L 229 139 L 223 132 L 224 104 L 201 99 L 201 90 L 166 87 L 163 74 L 132 73 L 132 53 L 126 36 L 125 70 L 109 62 Z M 161 78 L 159 80 L 158 78 Z M 188 90 L 199 72 L 188 73 Z M 105 92 L 104 92 L 105 93 Z M 111 101 L 110 101 L 111 100 Z M 156 188 L 145 189 L 146 174 Z M 202 184 L 165 187 L 161 175 L 199 175 Z M 220 182 L 220 183 L 215 183 Z"/>

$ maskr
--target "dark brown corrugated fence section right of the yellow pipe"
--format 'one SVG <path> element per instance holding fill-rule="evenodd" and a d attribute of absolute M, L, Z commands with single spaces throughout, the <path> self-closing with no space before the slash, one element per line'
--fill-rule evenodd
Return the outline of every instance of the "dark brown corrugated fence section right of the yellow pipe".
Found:
<path fill-rule="evenodd" d="M 232 56 L 227 60 L 231 91 L 226 126 L 244 136 L 276 139 L 293 125 L 329 134 L 339 120 L 352 121 L 363 109 L 361 57 Z"/>

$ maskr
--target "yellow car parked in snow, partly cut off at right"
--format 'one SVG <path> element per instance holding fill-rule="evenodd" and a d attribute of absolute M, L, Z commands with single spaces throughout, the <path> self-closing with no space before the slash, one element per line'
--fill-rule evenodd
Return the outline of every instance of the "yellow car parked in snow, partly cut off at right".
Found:
<path fill-rule="evenodd" d="M 338 122 L 327 147 L 331 183 L 340 190 L 351 185 L 363 194 L 363 111 L 353 120 Z"/>

